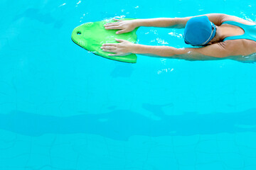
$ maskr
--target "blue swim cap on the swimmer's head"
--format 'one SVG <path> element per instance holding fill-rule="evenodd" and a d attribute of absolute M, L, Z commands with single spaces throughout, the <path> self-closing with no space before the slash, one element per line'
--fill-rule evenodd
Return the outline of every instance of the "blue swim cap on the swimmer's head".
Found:
<path fill-rule="evenodd" d="M 183 38 L 186 44 L 202 46 L 215 36 L 216 28 L 207 16 L 193 17 L 186 23 Z"/>

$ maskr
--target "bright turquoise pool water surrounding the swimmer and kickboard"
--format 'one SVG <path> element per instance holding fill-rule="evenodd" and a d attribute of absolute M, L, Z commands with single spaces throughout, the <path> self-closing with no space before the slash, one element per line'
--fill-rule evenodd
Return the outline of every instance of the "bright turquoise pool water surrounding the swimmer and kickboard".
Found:
<path fill-rule="evenodd" d="M 255 1 L 0 1 L 0 169 L 255 170 L 256 67 L 138 55 L 107 60 L 73 28 L 114 16 L 227 13 Z M 139 43 L 189 47 L 183 30 L 139 28 Z"/>

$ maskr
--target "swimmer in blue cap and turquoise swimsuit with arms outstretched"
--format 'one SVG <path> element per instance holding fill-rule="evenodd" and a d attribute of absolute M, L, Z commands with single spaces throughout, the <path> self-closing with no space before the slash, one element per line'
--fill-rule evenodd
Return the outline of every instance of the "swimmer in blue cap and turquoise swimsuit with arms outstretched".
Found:
<path fill-rule="evenodd" d="M 256 23 L 223 13 L 209 13 L 185 18 L 151 18 L 122 21 L 113 19 L 105 29 L 128 33 L 137 27 L 185 28 L 183 38 L 194 47 L 139 45 L 127 40 L 102 45 L 110 56 L 125 56 L 131 53 L 154 57 L 169 57 L 184 60 L 247 60 L 256 52 Z M 239 57 L 240 56 L 240 57 Z M 254 56 L 254 55 L 252 55 Z"/>

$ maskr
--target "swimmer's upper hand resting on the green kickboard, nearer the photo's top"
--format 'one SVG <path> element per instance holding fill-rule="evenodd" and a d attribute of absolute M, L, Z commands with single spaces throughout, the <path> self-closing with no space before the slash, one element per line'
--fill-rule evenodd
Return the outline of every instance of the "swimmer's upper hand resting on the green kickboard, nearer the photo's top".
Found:
<path fill-rule="evenodd" d="M 113 20 L 117 22 L 106 23 L 104 26 L 106 30 L 118 30 L 116 34 L 128 33 L 137 28 L 135 20 L 122 21 L 116 18 Z"/>

